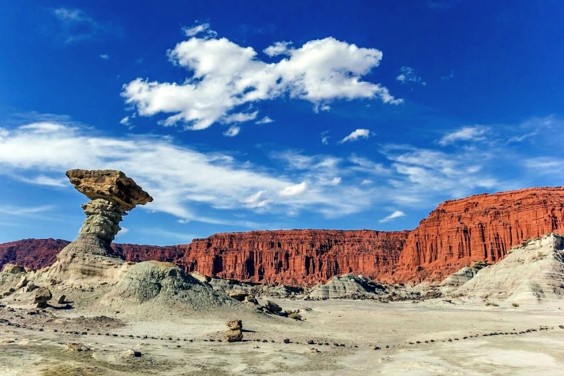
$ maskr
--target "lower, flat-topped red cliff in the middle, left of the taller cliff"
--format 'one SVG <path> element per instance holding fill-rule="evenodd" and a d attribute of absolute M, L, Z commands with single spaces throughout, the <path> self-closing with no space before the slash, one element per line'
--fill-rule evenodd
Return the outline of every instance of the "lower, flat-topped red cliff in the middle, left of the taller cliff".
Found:
<path fill-rule="evenodd" d="M 254 282 L 312 285 L 355 272 L 391 273 L 408 231 L 289 230 L 222 233 L 183 246 L 186 271 Z"/>

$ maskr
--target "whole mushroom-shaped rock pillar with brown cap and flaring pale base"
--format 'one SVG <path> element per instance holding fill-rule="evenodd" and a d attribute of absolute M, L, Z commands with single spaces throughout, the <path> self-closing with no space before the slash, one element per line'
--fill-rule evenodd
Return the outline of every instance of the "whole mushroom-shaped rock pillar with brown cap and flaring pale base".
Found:
<path fill-rule="evenodd" d="M 60 251 L 48 275 L 116 276 L 116 269 L 124 263 L 111 247 L 119 223 L 127 211 L 153 198 L 121 171 L 69 170 L 67 176 L 91 201 L 82 205 L 86 219 L 78 237 Z"/>

